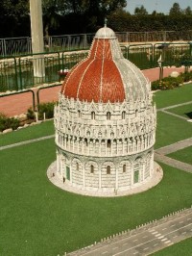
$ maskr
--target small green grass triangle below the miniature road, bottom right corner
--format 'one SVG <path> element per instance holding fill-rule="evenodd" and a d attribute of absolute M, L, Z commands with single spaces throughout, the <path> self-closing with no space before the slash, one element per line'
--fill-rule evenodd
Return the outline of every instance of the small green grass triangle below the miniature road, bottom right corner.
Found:
<path fill-rule="evenodd" d="M 154 256 L 191 256 L 192 239 L 186 239 L 180 243 L 176 243 L 172 246 L 166 247 L 162 250 L 157 251 Z"/>

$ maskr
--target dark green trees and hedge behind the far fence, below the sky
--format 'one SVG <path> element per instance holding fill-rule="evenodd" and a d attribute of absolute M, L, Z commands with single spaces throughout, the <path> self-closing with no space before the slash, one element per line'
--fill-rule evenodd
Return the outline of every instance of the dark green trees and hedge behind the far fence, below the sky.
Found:
<path fill-rule="evenodd" d="M 42 0 L 44 36 L 95 33 L 108 18 L 115 32 L 186 31 L 192 11 L 174 3 L 169 14 L 148 13 L 142 5 L 126 11 L 126 0 Z M 0 1 L 0 38 L 31 37 L 29 0 Z"/>

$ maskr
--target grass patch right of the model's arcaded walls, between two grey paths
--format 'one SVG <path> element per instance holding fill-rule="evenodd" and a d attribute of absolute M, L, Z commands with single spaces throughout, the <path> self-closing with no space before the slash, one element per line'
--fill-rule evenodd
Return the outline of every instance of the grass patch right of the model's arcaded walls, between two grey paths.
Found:
<path fill-rule="evenodd" d="M 155 148 L 185 140 L 192 135 L 192 123 L 180 117 L 157 112 L 156 123 Z"/>

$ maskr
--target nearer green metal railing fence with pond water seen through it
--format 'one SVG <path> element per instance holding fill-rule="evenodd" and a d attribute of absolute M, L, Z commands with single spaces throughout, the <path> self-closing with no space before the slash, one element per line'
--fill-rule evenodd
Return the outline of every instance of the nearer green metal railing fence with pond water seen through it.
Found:
<path fill-rule="evenodd" d="M 192 43 L 145 43 L 121 45 L 125 58 L 140 69 L 158 66 L 161 56 L 162 66 L 180 66 L 183 61 L 192 60 Z M 88 51 L 73 53 L 54 52 L 31 54 L 0 60 L 0 91 L 23 90 L 42 84 L 60 81 L 60 70 L 71 69 L 87 57 Z M 36 78 L 35 63 L 42 65 L 44 75 Z M 61 72 L 62 74 L 62 72 Z"/>

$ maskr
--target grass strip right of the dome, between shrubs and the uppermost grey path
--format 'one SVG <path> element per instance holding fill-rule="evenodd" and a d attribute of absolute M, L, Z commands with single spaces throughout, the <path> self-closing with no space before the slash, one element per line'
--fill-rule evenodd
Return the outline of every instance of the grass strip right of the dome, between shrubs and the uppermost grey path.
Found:
<path fill-rule="evenodd" d="M 165 108 L 191 101 L 192 84 L 183 85 L 174 90 L 158 90 L 154 93 L 156 108 Z"/>

